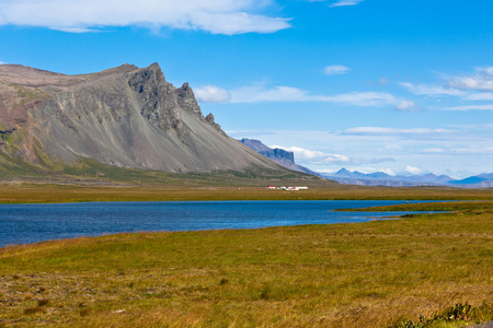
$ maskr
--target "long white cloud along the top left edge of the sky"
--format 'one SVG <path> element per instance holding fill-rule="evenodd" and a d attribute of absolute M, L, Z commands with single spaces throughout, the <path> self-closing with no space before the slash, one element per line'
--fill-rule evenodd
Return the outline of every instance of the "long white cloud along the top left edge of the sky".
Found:
<path fill-rule="evenodd" d="M 271 1 L 253 0 L 7 0 L 0 25 L 41 26 L 82 33 L 105 26 L 139 25 L 202 30 L 213 34 L 273 33 L 290 27 L 288 19 L 259 12 Z"/>

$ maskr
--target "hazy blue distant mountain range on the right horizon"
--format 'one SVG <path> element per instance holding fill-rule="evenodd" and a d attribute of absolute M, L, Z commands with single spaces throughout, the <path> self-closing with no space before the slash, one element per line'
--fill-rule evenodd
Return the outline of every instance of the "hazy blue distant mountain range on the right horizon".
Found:
<path fill-rule="evenodd" d="M 480 174 L 465 179 L 454 179 L 447 175 L 435 175 L 432 173 L 425 175 L 389 175 L 383 172 L 365 174 L 357 171 L 349 172 L 342 168 L 334 174 L 320 174 L 324 178 L 346 185 L 359 186 L 388 186 L 388 187 L 408 187 L 408 186 L 449 186 L 462 188 L 492 188 L 493 173 Z"/>

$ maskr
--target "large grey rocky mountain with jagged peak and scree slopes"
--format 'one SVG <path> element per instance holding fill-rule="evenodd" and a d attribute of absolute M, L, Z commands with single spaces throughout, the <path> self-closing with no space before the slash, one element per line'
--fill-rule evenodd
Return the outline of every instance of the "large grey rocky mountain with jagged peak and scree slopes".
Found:
<path fill-rule="evenodd" d="M 57 171 L 81 159 L 172 173 L 285 172 L 204 117 L 190 85 L 174 87 L 158 63 L 81 75 L 0 66 L 0 167 Z"/>

